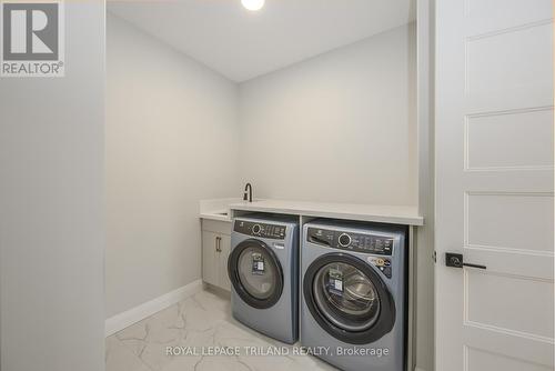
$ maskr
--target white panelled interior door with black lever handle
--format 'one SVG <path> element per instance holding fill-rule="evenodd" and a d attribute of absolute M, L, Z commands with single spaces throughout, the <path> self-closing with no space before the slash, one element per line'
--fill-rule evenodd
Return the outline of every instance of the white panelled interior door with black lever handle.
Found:
<path fill-rule="evenodd" d="M 436 370 L 553 370 L 552 1 L 440 0 L 435 34 Z"/>

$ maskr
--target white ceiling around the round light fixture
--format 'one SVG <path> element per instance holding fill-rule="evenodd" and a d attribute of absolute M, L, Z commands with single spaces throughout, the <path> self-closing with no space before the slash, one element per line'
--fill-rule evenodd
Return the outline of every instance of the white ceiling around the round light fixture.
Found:
<path fill-rule="evenodd" d="M 287 67 L 415 18 L 415 0 L 109 1 L 112 13 L 233 81 Z"/>

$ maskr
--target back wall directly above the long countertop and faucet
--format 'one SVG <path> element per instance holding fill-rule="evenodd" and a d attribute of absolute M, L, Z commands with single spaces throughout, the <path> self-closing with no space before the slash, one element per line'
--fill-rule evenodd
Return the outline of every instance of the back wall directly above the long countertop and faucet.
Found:
<path fill-rule="evenodd" d="M 415 27 L 240 86 L 243 181 L 275 199 L 416 204 Z"/>

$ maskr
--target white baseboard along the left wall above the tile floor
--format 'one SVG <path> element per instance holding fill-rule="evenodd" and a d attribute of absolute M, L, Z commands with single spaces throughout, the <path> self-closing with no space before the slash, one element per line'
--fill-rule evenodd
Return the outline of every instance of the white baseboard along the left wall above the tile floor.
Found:
<path fill-rule="evenodd" d="M 185 284 L 176 290 L 164 293 L 151 301 L 142 303 L 135 308 L 131 308 L 128 311 L 115 314 L 105 320 L 104 322 L 104 334 L 110 337 L 118 331 L 121 331 L 133 323 L 137 323 L 159 311 L 180 302 L 181 300 L 189 298 L 190 295 L 202 290 L 202 280 L 196 280 L 191 283 Z"/>

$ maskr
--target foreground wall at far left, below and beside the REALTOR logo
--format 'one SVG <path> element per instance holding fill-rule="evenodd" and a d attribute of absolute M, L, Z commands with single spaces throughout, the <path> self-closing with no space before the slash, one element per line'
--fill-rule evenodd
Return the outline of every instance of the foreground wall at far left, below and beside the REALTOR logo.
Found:
<path fill-rule="evenodd" d="M 1 370 L 104 369 L 104 3 L 65 2 L 65 77 L 0 79 Z"/>

